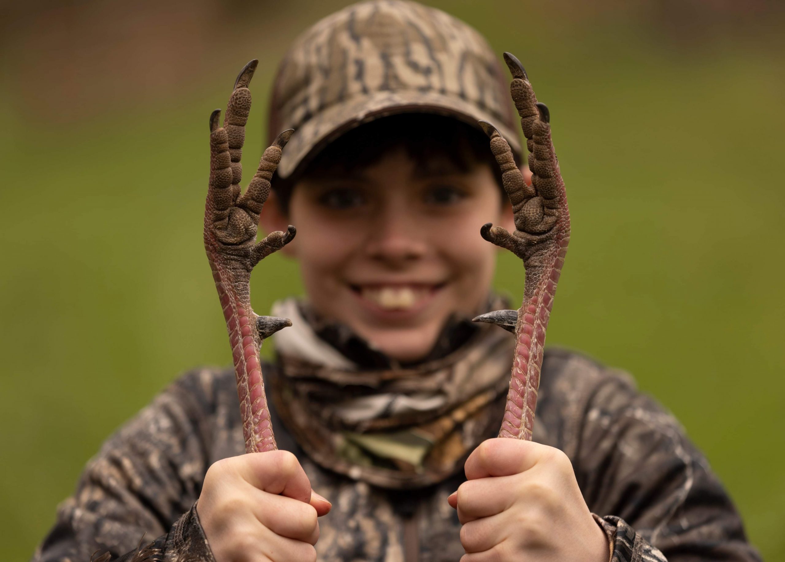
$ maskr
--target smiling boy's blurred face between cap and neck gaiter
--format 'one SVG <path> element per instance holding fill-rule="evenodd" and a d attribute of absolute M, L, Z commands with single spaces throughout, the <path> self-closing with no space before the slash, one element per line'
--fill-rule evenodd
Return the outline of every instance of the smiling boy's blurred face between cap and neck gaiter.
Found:
<path fill-rule="evenodd" d="M 452 314 L 482 312 L 496 247 L 480 226 L 514 228 L 487 165 L 430 168 L 392 151 L 354 175 L 298 182 L 288 217 L 271 195 L 261 216 L 268 232 L 297 226 L 286 251 L 316 311 L 400 361 L 424 357 Z"/>

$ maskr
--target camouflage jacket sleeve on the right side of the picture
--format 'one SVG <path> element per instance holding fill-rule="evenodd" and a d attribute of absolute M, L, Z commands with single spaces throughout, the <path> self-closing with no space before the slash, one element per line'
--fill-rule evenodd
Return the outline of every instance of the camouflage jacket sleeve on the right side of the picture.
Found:
<path fill-rule="evenodd" d="M 573 458 L 612 560 L 761 560 L 706 458 L 625 376 L 590 393 Z"/>

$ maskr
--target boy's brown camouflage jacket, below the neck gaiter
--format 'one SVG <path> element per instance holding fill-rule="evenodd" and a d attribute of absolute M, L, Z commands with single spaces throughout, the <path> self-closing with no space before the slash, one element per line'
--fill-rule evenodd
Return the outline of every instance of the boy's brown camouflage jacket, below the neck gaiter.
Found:
<path fill-rule="evenodd" d="M 535 440 L 568 454 L 610 539 L 609 560 L 760 560 L 706 459 L 625 374 L 549 349 L 537 417 Z M 279 447 L 298 456 L 314 490 L 333 502 L 320 520 L 319 560 L 462 557 L 458 517 L 447 505 L 462 473 L 422 490 L 385 491 L 320 468 L 273 422 Z M 121 560 L 214 562 L 195 502 L 208 467 L 243 452 L 232 370 L 185 374 L 89 462 L 34 562 L 86 562 L 97 550 Z M 137 552 L 143 535 L 155 540 Z"/>

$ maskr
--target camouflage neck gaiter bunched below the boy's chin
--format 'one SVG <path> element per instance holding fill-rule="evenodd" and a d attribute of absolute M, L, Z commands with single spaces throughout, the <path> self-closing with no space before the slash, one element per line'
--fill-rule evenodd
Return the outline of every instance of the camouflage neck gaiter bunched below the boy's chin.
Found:
<path fill-rule="evenodd" d="M 487 310 L 504 305 L 495 297 Z M 279 369 L 269 392 L 287 429 L 324 468 L 379 487 L 425 487 L 458 472 L 495 436 L 513 356 L 506 331 L 475 324 L 467 333 L 457 321 L 441 339 L 461 343 L 441 342 L 444 355 L 410 366 L 374 359 L 382 364 L 368 367 L 368 352 L 356 354 L 362 364 L 350 359 L 320 337 L 294 299 L 273 314 L 293 327 L 276 334 Z"/>

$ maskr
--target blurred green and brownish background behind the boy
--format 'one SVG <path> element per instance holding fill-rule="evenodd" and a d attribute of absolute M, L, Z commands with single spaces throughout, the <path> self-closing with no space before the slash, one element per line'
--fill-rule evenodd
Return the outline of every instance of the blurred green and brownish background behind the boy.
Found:
<path fill-rule="evenodd" d="M 429 2 L 431 3 L 431 2 Z M 202 246 L 207 117 L 343 2 L 0 7 L 0 528 L 27 560 L 100 443 L 190 367 L 228 364 Z M 433 2 L 516 53 L 568 186 L 548 335 L 685 425 L 751 540 L 785 559 L 785 18 L 732 0 Z M 479 225 L 478 225 L 479 227 Z M 522 269 L 503 257 L 515 297 Z M 301 291 L 272 257 L 254 308 Z"/>

